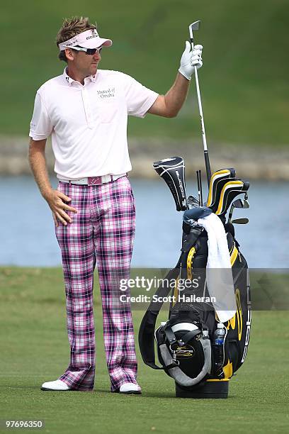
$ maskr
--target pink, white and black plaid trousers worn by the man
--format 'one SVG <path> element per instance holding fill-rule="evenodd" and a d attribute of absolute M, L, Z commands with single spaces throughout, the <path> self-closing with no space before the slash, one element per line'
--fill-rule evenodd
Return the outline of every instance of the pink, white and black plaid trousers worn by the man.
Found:
<path fill-rule="evenodd" d="M 60 182 L 59 191 L 78 213 L 55 228 L 62 252 L 70 363 L 59 377 L 72 389 L 94 388 L 93 287 L 97 264 L 103 309 L 103 337 L 111 391 L 137 383 L 137 359 L 130 306 L 115 307 L 121 294 L 115 276 L 129 278 L 135 235 L 135 203 L 128 177 L 87 186 Z M 119 299 L 119 297 L 118 297 Z"/>

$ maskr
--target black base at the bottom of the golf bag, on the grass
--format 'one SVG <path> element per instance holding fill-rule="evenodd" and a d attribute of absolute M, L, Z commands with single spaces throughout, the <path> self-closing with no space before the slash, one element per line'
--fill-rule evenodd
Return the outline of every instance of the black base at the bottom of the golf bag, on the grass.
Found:
<path fill-rule="evenodd" d="M 180 386 L 176 383 L 176 398 L 223 398 L 228 397 L 229 379 L 212 379 L 207 380 L 205 384 L 194 389 Z"/>

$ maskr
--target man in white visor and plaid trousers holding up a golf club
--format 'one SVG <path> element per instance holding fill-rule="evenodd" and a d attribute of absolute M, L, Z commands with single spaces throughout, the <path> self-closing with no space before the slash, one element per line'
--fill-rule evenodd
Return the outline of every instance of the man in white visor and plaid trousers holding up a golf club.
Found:
<path fill-rule="evenodd" d="M 171 118 L 186 99 L 194 67 L 202 66 L 202 46 L 193 53 L 186 42 L 174 85 L 166 95 L 142 86 L 126 74 L 98 69 L 100 38 L 88 18 L 64 20 L 57 34 L 64 73 L 42 84 L 30 123 L 30 167 L 50 206 L 62 252 L 70 363 L 42 390 L 94 387 L 95 343 L 93 285 L 98 266 L 103 335 L 111 391 L 140 394 L 137 384 L 132 316 L 129 306 L 115 308 L 115 275 L 129 277 L 135 234 L 135 204 L 127 173 L 128 115 Z M 45 165 L 45 144 L 52 135 L 55 172 L 52 189 Z M 116 291 L 116 292 L 115 292 Z"/>

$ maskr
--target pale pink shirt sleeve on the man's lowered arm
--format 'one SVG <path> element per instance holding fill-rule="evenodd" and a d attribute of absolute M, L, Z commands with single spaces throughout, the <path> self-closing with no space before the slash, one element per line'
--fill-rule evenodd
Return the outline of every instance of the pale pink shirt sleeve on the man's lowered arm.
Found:
<path fill-rule="evenodd" d="M 52 122 L 47 112 L 45 103 L 38 91 L 35 96 L 34 111 L 30 122 L 29 136 L 33 140 L 43 140 L 52 133 Z"/>

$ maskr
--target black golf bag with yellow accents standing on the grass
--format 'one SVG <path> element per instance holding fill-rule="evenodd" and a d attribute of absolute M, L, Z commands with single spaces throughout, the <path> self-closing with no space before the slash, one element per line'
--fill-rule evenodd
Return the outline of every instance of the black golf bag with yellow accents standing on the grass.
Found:
<path fill-rule="evenodd" d="M 177 177 L 175 185 L 178 187 L 179 184 Z M 198 224 L 183 222 L 179 261 L 166 274 L 140 325 L 142 360 L 153 369 L 163 369 L 175 380 L 176 396 L 227 398 L 229 379 L 246 358 L 251 327 L 248 266 L 234 238 L 234 226 L 232 223 L 226 225 L 222 217 L 237 311 L 219 325 L 224 334 L 221 351 L 220 346 L 215 345 L 220 321 L 206 284 L 208 233 Z M 185 286 L 183 282 L 186 282 Z M 168 321 L 156 329 L 157 316 L 167 296 L 171 301 Z M 155 361 L 154 341 L 161 366 Z"/>

